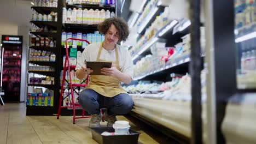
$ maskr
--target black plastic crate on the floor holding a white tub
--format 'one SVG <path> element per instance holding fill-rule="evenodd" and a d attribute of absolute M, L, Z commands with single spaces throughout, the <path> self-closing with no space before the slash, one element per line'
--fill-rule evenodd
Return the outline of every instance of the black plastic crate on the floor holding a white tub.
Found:
<path fill-rule="evenodd" d="M 139 133 L 137 131 L 130 130 L 128 135 L 101 135 L 104 131 L 109 133 L 115 130 L 112 127 L 97 127 L 91 128 L 92 139 L 100 144 L 137 144 Z"/>

